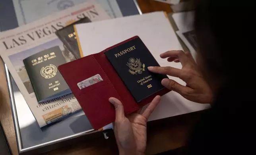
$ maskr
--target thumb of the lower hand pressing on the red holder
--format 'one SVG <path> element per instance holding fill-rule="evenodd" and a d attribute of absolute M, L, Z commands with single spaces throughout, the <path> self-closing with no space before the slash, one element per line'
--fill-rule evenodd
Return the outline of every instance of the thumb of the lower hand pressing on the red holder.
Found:
<path fill-rule="evenodd" d="M 124 119 L 124 107 L 122 102 L 114 97 L 109 98 L 109 102 L 114 105 L 116 111 L 116 120 Z"/>

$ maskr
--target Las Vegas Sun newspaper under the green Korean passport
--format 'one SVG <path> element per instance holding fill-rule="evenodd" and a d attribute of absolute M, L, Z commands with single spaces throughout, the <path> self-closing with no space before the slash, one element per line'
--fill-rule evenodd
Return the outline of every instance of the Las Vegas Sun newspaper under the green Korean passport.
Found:
<path fill-rule="evenodd" d="M 85 16 L 91 21 L 110 19 L 99 4 L 85 2 L 39 21 L 0 33 L 0 55 L 40 127 L 81 110 L 81 106 L 73 94 L 39 104 L 24 67 L 23 59 L 56 45 L 62 50 L 66 62 L 74 59 L 74 56 L 65 50 L 63 43 L 54 32 Z"/>

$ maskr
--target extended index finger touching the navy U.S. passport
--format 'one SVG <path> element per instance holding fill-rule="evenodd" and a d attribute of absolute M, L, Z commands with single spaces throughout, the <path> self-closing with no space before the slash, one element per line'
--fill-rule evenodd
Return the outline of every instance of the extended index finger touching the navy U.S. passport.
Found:
<path fill-rule="evenodd" d="M 183 72 L 182 70 L 178 69 L 178 68 L 173 68 L 173 67 L 158 67 L 158 66 L 149 66 L 147 68 L 150 72 L 153 73 L 158 73 L 158 74 L 166 74 L 169 76 L 175 76 L 175 77 L 179 77 L 182 79 L 183 76 Z"/>

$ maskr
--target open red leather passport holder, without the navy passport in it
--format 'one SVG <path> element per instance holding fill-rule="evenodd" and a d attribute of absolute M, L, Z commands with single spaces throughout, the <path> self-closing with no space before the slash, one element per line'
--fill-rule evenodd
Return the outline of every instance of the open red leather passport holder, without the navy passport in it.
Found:
<path fill-rule="evenodd" d="M 169 92 L 168 89 L 161 89 L 153 95 L 144 98 L 140 102 L 136 102 L 122 79 L 118 76 L 114 67 L 107 59 L 105 55 L 106 51 L 136 38 L 139 37 L 134 36 L 109 47 L 100 53 L 89 55 L 58 67 L 60 73 L 66 80 L 66 83 L 83 108 L 83 111 L 89 119 L 93 129 L 97 130 L 114 122 L 115 111 L 112 104 L 109 103 L 110 97 L 118 98 L 124 106 L 124 112 L 129 114 L 151 102 L 155 96 L 162 96 Z M 77 83 L 95 76 L 96 74 L 99 74 L 103 81 L 90 85 L 89 87 L 79 89 Z"/>

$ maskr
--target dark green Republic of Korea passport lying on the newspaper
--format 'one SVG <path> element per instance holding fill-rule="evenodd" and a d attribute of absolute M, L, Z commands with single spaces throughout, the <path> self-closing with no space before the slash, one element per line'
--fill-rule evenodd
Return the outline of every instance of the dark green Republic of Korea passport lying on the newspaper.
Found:
<path fill-rule="evenodd" d="M 58 71 L 66 63 L 60 47 L 55 46 L 23 60 L 38 102 L 72 93 Z"/>

